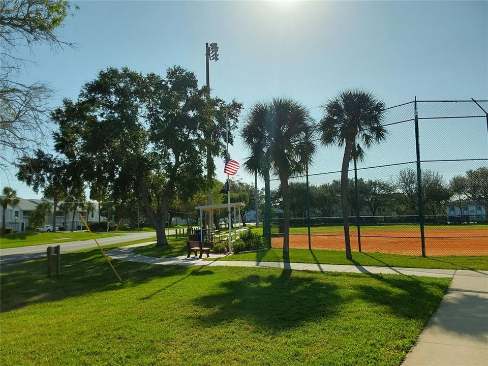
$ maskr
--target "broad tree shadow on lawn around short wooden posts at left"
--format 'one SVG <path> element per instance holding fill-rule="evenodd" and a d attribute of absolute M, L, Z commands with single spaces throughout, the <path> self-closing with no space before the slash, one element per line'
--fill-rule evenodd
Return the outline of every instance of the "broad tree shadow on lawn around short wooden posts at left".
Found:
<path fill-rule="evenodd" d="M 155 266 L 117 260 L 112 260 L 112 264 L 123 279 L 123 284 L 117 282 L 98 248 L 78 253 L 63 253 L 59 277 L 47 277 L 45 258 L 4 264 L 0 274 L 0 310 L 7 312 L 39 302 L 57 301 L 88 292 L 127 288 L 153 278 L 184 275 L 189 270 L 180 266 Z"/>

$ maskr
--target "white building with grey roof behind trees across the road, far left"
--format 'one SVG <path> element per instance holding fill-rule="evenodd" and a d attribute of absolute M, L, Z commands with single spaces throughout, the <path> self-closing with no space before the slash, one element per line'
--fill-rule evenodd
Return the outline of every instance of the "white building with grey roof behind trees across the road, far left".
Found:
<path fill-rule="evenodd" d="M 14 207 L 7 206 L 7 210 L 5 212 L 5 220 L 6 220 L 6 225 L 7 227 L 12 228 L 14 231 L 22 232 L 27 229 L 27 226 L 29 225 L 29 215 L 31 212 L 33 212 L 36 207 L 42 203 L 42 202 L 47 202 L 51 205 L 53 205 L 53 201 L 43 198 L 43 199 L 23 199 L 20 198 L 20 202 L 15 205 Z M 67 216 L 66 216 L 66 222 L 65 222 L 65 212 L 62 210 L 59 210 L 59 205 L 63 202 L 59 202 L 57 205 L 57 211 L 56 211 L 56 227 L 63 227 L 64 230 L 68 231 L 71 230 L 71 224 L 72 224 L 72 218 L 73 218 L 73 211 L 69 211 Z M 87 222 L 98 222 L 98 205 L 95 204 L 95 210 L 93 212 L 90 212 L 87 218 Z M 81 220 L 79 217 L 79 214 L 83 214 L 84 217 L 86 217 L 86 211 L 85 210 L 80 210 L 79 208 L 76 209 L 75 211 L 75 222 L 73 229 L 74 230 L 79 230 L 80 225 L 81 225 Z M 49 217 L 46 219 L 45 225 L 52 224 L 52 215 L 49 215 Z M 105 221 L 106 218 L 101 217 L 100 218 L 102 221 Z M 3 220 L 3 210 L 0 210 L 0 220 Z"/>

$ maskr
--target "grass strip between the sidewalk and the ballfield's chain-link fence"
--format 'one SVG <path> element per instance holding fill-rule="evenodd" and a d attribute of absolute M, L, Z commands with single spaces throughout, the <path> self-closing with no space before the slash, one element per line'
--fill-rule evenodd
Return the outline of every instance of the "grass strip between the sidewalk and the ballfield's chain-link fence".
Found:
<path fill-rule="evenodd" d="M 272 248 L 255 253 L 235 254 L 219 260 L 282 262 L 283 250 Z M 444 269 L 488 269 L 488 257 L 414 257 L 384 253 L 352 254 L 353 260 L 347 260 L 343 251 L 290 249 L 290 262 L 351 264 L 413 268 L 444 268 Z"/>

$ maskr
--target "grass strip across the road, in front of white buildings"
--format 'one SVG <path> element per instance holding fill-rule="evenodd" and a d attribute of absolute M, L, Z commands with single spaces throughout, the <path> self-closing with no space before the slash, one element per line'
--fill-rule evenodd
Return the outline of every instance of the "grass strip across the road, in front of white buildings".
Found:
<path fill-rule="evenodd" d="M 121 235 L 119 233 L 95 233 L 96 238 L 110 237 Z M 88 240 L 92 236 L 84 231 L 58 231 L 58 232 L 42 232 L 42 233 L 15 233 L 4 235 L 0 237 L 0 249 L 27 247 L 40 244 L 60 243 L 74 240 Z"/>

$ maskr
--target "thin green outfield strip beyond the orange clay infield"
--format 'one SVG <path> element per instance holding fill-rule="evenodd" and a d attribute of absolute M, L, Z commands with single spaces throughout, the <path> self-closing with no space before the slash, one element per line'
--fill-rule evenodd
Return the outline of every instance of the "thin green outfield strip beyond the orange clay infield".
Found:
<path fill-rule="evenodd" d="M 481 224 L 473 224 L 473 225 L 425 225 L 425 230 L 434 232 L 435 230 L 452 230 L 452 231 L 463 231 L 463 230 L 486 230 L 488 231 L 488 225 L 481 225 Z M 355 232 L 356 227 L 354 225 L 350 226 L 351 232 Z M 361 232 L 362 231 L 419 231 L 418 225 L 361 225 Z M 273 226 L 271 228 L 273 233 L 278 231 L 277 226 Z M 343 226 L 311 226 L 310 232 L 311 233 L 328 233 L 328 232 L 343 232 Z M 308 228 L 307 226 L 300 226 L 300 227 L 290 227 L 291 234 L 307 234 Z M 419 234 L 420 235 L 420 234 Z"/>

